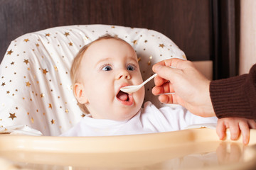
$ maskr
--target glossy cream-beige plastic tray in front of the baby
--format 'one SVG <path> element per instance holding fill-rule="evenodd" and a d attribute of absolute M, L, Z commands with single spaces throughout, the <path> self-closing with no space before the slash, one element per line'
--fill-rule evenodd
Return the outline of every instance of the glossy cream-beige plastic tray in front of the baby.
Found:
<path fill-rule="evenodd" d="M 245 146 L 241 137 L 220 141 L 208 128 L 110 137 L 0 135 L 0 157 L 26 169 L 252 169 L 255 143 L 256 130 Z"/>

